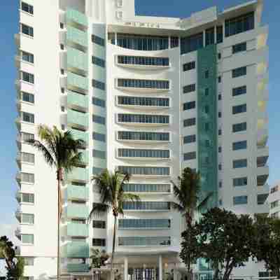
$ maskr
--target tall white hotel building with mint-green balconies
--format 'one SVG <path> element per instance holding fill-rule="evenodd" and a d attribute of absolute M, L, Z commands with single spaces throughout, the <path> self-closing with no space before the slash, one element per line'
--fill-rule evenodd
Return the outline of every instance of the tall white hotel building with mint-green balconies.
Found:
<path fill-rule="evenodd" d="M 186 11 L 189 13 L 189 11 Z M 39 124 L 84 139 L 83 165 L 64 177 L 62 271 L 88 274 L 92 248 L 111 251 L 113 218 L 85 222 L 102 169 L 132 174 L 118 221 L 123 279 L 181 279 L 180 214 L 171 180 L 200 171 L 201 198 L 237 214 L 268 213 L 268 27 L 262 1 L 190 18 L 135 15 L 134 0 L 20 1 L 16 235 L 25 276 L 56 274 L 57 185 L 27 139 Z M 197 266 L 202 275 L 207 267 Z M 258 276 L 250 263 L 234 276 Z M 145 276 L 144 276 L 145 275 Z"/>

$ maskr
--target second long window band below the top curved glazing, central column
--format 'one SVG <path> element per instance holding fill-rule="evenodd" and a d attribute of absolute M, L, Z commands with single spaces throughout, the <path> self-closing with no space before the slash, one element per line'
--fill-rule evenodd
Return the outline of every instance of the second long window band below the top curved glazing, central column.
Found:
<path fill-rule="evenodd" d="M 158 90 L 169 90 L 169 80 L 136 80 L 119 78 L 118 87 L 154 88 Z"/>

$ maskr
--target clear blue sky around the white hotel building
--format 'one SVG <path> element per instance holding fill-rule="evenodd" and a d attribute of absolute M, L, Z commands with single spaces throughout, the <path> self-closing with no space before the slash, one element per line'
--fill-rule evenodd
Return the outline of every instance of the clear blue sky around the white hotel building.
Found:
<path fill-rule="evenodd" d="M 52 1 L 52 0 L 48 0 Z M 17 116 L 15 108 L 15 67 L 13 57 L 15 45 L 13 34 L 18 31 L 18 0 L 0 1 L 1 22 L 0 25 L 0 62 L 1 62 L 1 87 L 0 104 L 1 142 L 0 142 L 0 235 L 4 234 L 3 225 L 15 223 L 14 211 L 17 208 L 15 201 L 16 182 L 15 174 L 17 165 L 15 155 L 17 146 L 15 136 L 17 134 L 14 120 Z M 137 14 L 158 15 L 166 17 L 187 18 L 190 13 L 218 6 L 219 10 L 229 6 L 244 3 L 241 0 L 136 0 Z M 265 1 L 265 9 L 262 22 L 269 24 L 269 182 L 273 183 L 280 176 L 279 172 L 279 15 L 280 1 Z M 277 69 L 278 65 L 278 69 Z M 277 71 L 278 70 L 278 71 Z M 47 77 L 46 77 L 47 78 Z M 278 78 L 278 79 L 277 79 Z M 2 226 L 1 226 L 2 225 Z M 7 228 L 7 226 L 5 226 Z"/>

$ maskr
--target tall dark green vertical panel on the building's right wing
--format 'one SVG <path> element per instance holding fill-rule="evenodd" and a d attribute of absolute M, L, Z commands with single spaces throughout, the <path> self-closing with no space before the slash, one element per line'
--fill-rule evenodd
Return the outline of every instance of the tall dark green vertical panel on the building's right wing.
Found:
<path fill-rule="evenodd" d="M 197 50 L 198 170 L 202 178 L 202 197 L 200 197 L 200 200 L 212 193 L 204 210 L 217 206 L 218 113 L 216 57 L 216 45 L 209 45 L 206 48 Z M 208 108 L 207 111 L 205 108 Z"/>

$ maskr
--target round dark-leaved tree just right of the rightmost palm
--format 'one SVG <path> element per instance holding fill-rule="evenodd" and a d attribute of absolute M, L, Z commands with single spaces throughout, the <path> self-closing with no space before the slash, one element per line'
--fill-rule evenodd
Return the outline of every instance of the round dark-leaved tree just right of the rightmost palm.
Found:
<path fill-rule="evenodd" d="M 244 266 L 252 256 L 254 228 L 249 216 L 214 208 L 202 214 L 197 228 L 198 246 L 214 268 L 214 279 L 221 273 L 228 280 L 232 269 Z"/>

